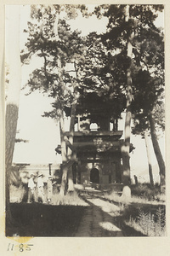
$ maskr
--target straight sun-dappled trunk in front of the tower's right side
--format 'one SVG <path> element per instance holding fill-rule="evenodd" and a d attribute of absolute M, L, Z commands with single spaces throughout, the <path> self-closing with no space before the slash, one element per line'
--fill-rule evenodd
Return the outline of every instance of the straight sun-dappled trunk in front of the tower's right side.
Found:
<path fill-rule="evenodd" d="M 129 21 L 129 5 L 125 7 L 125 21 L 128 24 Z M 131 63 L 132 55 L 133 55 L 133 32 L 129 31 L 127 28 L 127 59 Z M 127 112 L 125 119 L 125 133 L 124 133 L 124 145 L 122 146 L 122 183 L 123 183 L 123 197 L 130 197 L 130 134 L 131 134 L 131 119 L 132 119 L 132 111 L 131 111 L 131 102 L 133 99 L 133 90 L 132 90 L 132 75 L 131 75 L 131 64 L 127 67 Z"/>

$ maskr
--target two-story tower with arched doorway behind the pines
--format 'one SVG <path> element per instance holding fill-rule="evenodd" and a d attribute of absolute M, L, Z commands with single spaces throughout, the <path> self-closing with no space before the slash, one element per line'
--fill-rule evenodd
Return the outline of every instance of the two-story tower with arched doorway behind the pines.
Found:
<path fill-rule="evenodd" d="M 118 131 L 111 106 L 92 93 L 77 106 L 76 126 L 74 180 L 84 184 L 122 183 L 122 131 Z"/>

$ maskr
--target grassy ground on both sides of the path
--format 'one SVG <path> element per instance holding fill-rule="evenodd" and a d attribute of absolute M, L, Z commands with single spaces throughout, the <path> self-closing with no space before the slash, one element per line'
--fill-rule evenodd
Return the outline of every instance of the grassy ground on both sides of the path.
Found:
<path fill-rule="evenodd" d="M 6 236 L 75 236 L 87 209 L 87 203 L 76 192 L 60 197 L 57 186 L 50 205 L 27 204 L 23 187 L 11 186 L 10 195 L 15 224 L 7 222 Z M 112 213 L 116 214 L 116 223 L 124 236 L 165 236 L 165 193 L 160 193 L 158 186 L 132 186 L 132 199 L 128 203 L 114 191 L 101 199 L 110 202 L 113 208 L 119 206 L 118 215 L 114 209 Z"/>

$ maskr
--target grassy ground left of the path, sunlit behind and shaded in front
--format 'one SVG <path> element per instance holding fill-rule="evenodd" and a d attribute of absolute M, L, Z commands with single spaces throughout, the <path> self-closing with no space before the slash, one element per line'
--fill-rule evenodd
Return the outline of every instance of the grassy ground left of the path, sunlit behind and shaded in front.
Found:
<path fill-rule="evenodd" d="M 47 201 L 47 190 L 45 198 Z M 14 223 L 6 220 L 6 236 L 74 236 L 87 203 L 77 193 L 61 197 L 57 186 L 50 205 L 27 203 L 25 187 L 10 187 L 10 210 Z M 36 191 L 37 201 L 37 191 Z"/>

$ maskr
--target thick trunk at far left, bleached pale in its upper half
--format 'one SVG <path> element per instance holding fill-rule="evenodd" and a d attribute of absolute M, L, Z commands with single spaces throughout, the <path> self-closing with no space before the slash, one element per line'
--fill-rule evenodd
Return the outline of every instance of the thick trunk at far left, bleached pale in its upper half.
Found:
<path fill-rule="evenodd" d="M 14 142 L 20 102 L 20 6 L 8 6 L 7 9 L 7 61 L 9 63 L 8 98 L 5 113 L 5 192 L 6 192 L 6 223 L 13 220 L 10 212 L 10 172 L 14 154 Z"/>

